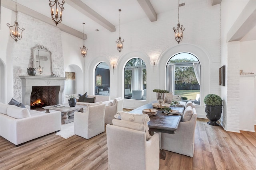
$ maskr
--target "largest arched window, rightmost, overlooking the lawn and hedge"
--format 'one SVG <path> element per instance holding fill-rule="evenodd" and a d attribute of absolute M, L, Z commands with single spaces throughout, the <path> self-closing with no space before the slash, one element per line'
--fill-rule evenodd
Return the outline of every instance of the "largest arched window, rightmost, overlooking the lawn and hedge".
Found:
<path fill-rule="evenodd" d="M 166 89 L 182 101 L 200 104 L 200 62 L 190 53 L 178 53 L 166 66 Z"/>

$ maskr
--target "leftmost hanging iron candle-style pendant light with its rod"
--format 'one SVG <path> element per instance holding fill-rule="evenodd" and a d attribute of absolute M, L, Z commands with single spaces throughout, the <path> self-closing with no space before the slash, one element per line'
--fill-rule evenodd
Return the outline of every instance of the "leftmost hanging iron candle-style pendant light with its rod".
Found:
<path fill-rule="evenodd" d="M 12 37 L 12 39 L 14 39 L 16 42 L 18 40 L 20 40 L 22 38 L 22 31 L 24 31 L 25 29 L 22 28 L 20 29 L 19 24 L 17 22 L 17 1 L 15 0 L 15 22 L 14 25 L 10 26 L 10 23 L 7 23 L 7 26 L 10 28 L 10 36 Z M 12 27 L 14 27 L 14 29 L 12 29 Z M 19 30 L 21 30 L 21 32 L 19 32 Z"/>

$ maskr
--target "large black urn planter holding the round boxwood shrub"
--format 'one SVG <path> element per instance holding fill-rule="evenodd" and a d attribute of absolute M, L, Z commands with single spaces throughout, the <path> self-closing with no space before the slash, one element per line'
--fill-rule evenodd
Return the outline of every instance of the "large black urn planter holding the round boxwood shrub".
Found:
<path fill-rule="evenodd" d="M 222 106 L 209 106 L 209 105 L 206 105 L 205 106 L 205 113 L 206 113 L 206 117 L 210 120 L 210 121 L 207 122 L 208 125 L 219 126 L 217 121 L 221 117 Z"/>

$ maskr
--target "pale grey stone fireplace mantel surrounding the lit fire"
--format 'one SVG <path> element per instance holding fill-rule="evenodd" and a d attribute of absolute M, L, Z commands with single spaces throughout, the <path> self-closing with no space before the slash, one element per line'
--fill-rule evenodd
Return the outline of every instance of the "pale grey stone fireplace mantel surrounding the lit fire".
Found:
<path fill-rule="evenodd" d="M 58 104 L 62 104 L 62 93 L 66 77 L 53 76 L 19 76 L 22 85 L 22 103 L 30 106 L 30 95 L 33 86 L 60 86 Z"/>

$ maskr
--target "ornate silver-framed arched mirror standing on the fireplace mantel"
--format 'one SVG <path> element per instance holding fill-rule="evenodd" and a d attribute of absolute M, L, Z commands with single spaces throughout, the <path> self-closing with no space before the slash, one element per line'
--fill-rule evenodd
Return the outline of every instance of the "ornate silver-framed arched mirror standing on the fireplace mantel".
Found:
<path fill-rule="evenodd" d="M 52 53 L 44 47 L 33 48 L 33 67 L 37 76 L 52 76 Z"/>

